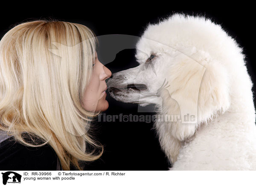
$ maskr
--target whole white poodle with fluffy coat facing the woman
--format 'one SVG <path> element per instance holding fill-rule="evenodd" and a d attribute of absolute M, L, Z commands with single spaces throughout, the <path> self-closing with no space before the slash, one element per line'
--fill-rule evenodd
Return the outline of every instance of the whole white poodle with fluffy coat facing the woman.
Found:
<path fill-rule="evenodd" d="M 256 170 L 252 82 L 242 50 L 220 26 L 173 15 L 148 26 L 136 58 L 138 67 L 108 81 L 111 96 L 156 104 L 159 115 L 196 116 L 155 122 L 171 170 Z"/>

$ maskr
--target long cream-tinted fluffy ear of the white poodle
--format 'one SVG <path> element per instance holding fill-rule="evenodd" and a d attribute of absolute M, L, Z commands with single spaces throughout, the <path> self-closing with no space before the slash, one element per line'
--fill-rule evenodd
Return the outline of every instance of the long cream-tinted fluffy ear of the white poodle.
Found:
<path fill-rule="evenodd" d="M 168 78 L 172 99 L 161 97 L 165 113 L 180 113 L 180 121 L 173 122 L 171 130 L 172 136 L 182 141 L 191 137 L 202 122 L 229 108 L 229 78 L 218 61 L 200 64 L 186 55 L 175 61 Z"/>

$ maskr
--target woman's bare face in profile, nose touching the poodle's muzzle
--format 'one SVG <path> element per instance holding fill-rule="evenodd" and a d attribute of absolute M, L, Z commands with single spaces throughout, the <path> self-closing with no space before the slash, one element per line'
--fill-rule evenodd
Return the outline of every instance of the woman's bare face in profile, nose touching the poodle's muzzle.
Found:
<path fill-rule="evenodd" d="M 93 73 L 88 86 L 83 95 L 83 106 L 88 111 L 104 111 L 108 109 L 108 101 L 106 100 L 107 84 L 105 82 L 112 73 L 105 67 L 96 55 L 95 63 L 93 64 Z"/>

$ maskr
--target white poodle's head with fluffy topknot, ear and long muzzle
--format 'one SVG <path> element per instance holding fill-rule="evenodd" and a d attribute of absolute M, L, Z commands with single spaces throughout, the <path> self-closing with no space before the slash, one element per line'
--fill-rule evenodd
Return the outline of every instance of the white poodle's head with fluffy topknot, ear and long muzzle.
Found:
<path fill-rule="evenodd" d="M 139 66 L 113 74 L 109 92 L 122 102 L 157 104 L 182 123 L 205 122 L 230 107 L 230 72 L 219 46 L 225 40 L 221 27 L 202 17 L 148 25 L 136 46 Z"/>

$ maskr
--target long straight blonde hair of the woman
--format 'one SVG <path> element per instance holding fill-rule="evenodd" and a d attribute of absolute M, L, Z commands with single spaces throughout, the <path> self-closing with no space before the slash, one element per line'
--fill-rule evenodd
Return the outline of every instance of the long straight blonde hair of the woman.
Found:
<path fill-rule="evenodd" d="M 47 20 L 21 23 L 0 41 L 0 130 L 24 145 L 48 143 L 64 170 L 70 163 L 82 170 L 80 160 L 96 160 L 103 152 L 87 132 L 98 113 L 81 102 L 96 46 L 86 26 Z"/>

